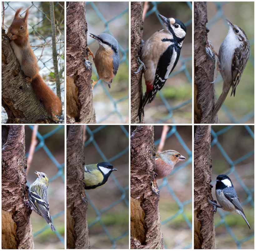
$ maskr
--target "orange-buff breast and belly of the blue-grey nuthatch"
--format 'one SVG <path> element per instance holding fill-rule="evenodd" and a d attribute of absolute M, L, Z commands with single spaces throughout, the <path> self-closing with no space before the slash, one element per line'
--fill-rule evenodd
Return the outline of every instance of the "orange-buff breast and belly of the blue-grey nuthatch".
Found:
<path fill-rule="evenodd" d="M 95 67 L 100 79 L 111 81 L 115 76 L 113 73 L 113 51 L 110 47 L 100 46 L 94 58 Z"/>

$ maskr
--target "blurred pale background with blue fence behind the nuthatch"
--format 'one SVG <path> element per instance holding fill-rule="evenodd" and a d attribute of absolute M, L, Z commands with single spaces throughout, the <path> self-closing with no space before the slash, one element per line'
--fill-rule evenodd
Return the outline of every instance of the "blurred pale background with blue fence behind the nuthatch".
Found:
<path fill-rule="evenodd" d="M 93 88 L 93 107 L 97 123 L 129 123 L 129 12 L 128 2 L 86 2 L 87 43 L 93 54 L 98 42 L 89 36 L 108 33 L 119 45 L 120 65 L 112 80 L 111 88 L 104 80 Z M 89 61 L 93 63 L 92 57 Z M 91 79 L 98 79 L 92 65 Z"/>

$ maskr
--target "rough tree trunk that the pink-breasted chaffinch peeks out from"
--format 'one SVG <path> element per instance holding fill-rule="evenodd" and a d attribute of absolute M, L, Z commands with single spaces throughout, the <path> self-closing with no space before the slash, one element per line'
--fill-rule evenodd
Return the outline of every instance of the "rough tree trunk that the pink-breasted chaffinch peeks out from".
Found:
<path fill-rule="evenodd" d="M 154 126 L 131 126 L 131 249 L 164 249 L 155 180 Z"/>

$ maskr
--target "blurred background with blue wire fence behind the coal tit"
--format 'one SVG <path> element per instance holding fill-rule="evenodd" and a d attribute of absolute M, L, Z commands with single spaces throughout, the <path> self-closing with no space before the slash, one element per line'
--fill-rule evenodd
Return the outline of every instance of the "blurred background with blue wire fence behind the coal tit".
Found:
<path fill-rule="evenodd" d="M 252 228 L 242 216 L 218 209 L 214 214 L 217 247 L 254 249 L 254 126 L 212 126 L 211 136 L 213 197 L 216 200 L 216 177 L 228 175 Z"/>

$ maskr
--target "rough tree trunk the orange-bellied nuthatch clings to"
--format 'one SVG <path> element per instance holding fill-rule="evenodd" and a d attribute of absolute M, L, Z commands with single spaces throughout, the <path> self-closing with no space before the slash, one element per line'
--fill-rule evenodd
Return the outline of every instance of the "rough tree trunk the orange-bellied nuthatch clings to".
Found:
<path fill-rule="evenodd" d="M 95 124 L 95 110 L 90 91 L 92 68 L 85 66 L 85 60 L 88 59 L 85 2 L 67 2 L 66 34 L 67 123 Z"/>

